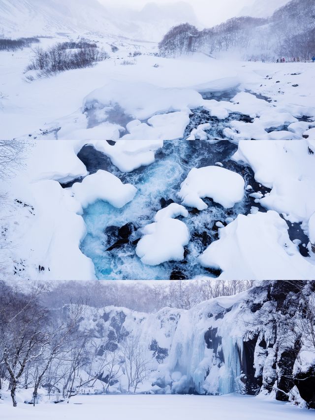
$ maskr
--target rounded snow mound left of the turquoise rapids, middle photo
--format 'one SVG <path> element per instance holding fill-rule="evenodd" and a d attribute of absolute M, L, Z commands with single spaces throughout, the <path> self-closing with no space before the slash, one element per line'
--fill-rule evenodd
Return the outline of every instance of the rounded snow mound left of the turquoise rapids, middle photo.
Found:
<path fill-rule="evenodd" d="M 112 206 L 122 208 L 134 198 L 136 192 L 133 185 L 123 184 L 117 176 L 104 170 L 98 170 L 72 186 L 72 193 L 83 208 L 97 200 L 108 201 Z"/>

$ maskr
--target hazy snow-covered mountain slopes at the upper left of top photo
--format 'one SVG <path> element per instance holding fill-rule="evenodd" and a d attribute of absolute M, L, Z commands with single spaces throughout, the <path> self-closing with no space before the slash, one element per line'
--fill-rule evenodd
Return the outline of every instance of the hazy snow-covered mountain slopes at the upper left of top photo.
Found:
<path fill-rule="evenodd" d="M 0 0 L 0 32 L 5 36 L 61 33 L 113 34 L 159 41 L 172 26 L 197 24 L 185 2 L 148 3 L 142 10 L 108 8 L 97 0 Z"/>

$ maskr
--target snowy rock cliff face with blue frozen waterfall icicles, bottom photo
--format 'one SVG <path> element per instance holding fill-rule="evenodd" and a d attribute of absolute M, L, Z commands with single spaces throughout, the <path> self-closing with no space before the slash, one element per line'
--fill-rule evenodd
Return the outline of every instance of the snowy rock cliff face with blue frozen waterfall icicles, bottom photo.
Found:
<path fill-rule="evenodd" d="M 89 308 L 81 326 L 95 336 L 98 357 L 124 357 L 124 343 L 136 338 L 149 363 L 139 392 L 272 393 L 315 408 L 314 319 L 315 282 L 266 281 L 189 311 Z M 124 376 L 109 391 L 126 391 Z"/>

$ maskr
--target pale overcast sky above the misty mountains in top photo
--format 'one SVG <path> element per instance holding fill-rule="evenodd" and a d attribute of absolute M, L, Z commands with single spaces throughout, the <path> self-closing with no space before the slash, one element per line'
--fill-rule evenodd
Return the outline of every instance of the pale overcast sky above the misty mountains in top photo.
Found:
<path fill-rule="evenodd" d="M 128 6 L 140 9 L 146 3 L 171 3 L 176 0 L 98 0 L 105 6 Z M 206 26 L 215 25 L 225 19 L 238 15 L 245 5 L 251 5 L 254 0 L 184 0 L 194 8 L 200 22 Z M 270 1 L 270 0 L 268 0 Z"/>

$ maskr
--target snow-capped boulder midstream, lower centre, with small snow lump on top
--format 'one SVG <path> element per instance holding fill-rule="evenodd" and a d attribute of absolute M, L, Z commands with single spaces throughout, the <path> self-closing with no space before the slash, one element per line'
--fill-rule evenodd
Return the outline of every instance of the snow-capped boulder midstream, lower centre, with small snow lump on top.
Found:
<path fill-rule="evenodd" d="M 158 265 L 165 261 L 181 261 L 184 258 L 184 246 L 188 244 L 190 234 L 184 222 L 173 219 L 188 216 L 185 207 L 172 203 L 159 210 L 155 223 L 143 228 L 144 236 L 137 244 L 136 254 L 144 264 Z"/>

